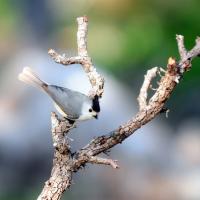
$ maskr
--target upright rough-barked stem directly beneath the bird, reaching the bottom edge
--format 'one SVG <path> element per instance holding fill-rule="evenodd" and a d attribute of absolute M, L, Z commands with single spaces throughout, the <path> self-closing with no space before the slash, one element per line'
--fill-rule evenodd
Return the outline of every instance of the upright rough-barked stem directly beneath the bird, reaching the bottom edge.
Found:
<path fill-rule="evenodd" d="M 62 193 L 70 187 L 72 171 L 70 160 L 72 153 L 65 134 L 73 127 L 69 121 L 61 121 L 55 113 L 51 114 L 54 160 L 51 177 L 45 182 L 37 200 L 58 200 Z"/>

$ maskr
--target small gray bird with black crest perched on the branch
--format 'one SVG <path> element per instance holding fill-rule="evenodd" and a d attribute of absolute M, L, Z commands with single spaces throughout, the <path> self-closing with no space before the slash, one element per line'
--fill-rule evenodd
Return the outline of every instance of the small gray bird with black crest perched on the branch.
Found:
<path fill-rule="evenodd" d="M 69 88 L 50 85 L 42 81 L 30 67 L 24 67 L 18 79 L 47 93 L 54 101 L 56 110 L 66 119 L 84 121 L 98 118 L 100 105 L 97 95 L 91 98 Z"/>

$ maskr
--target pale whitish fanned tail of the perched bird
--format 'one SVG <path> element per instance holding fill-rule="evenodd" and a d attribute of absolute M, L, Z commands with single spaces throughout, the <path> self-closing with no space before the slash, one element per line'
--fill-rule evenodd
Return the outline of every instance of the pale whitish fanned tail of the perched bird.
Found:
<path fill-rule="evenodd" d="M 30 67 L 24 67 L 23 71 L 18 75 L 18 79 L 40 89 L 45 89 L 48 86 L 48 84 L 43 82 Z"/>

